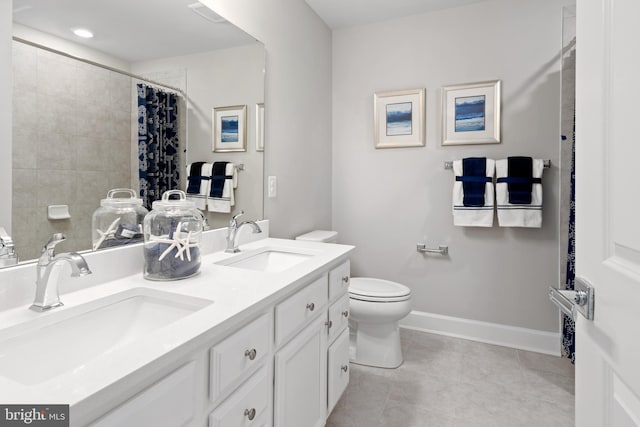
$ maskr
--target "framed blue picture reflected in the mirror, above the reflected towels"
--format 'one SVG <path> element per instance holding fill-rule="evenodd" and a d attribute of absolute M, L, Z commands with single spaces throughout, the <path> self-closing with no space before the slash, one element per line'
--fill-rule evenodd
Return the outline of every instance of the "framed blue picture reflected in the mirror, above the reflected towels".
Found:
<path fill-rule="evenodd" d="M 233 105 L 213 109 L 213 151 L 247 151 L 247 106 Z"/>

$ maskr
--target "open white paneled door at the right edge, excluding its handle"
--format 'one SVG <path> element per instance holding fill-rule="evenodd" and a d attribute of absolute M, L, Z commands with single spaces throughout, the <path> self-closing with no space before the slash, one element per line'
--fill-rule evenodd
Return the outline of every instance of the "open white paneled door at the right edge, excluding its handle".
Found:
<path fill-rule="evenodd" d="M 640 426 L 640 1 L 577 1 L 576 426 Z"/>

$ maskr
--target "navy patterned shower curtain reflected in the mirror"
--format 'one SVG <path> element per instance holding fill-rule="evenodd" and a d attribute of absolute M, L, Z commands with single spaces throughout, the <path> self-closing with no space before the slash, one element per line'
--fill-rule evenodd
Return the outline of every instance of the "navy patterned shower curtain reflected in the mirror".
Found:
<path fill-rule="evenodd" d="M 178 96 L 138 84 L 140 198 L 147 209 L 167 190 L 180 188 Z"/>

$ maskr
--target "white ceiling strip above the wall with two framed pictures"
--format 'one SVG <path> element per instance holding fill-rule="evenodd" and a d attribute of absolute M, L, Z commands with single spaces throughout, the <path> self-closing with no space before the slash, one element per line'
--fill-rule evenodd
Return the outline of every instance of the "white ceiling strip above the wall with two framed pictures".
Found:
<path fill-rule="evenodd" d="M 331 28 L 466 6 L 486 0 L 305 0 Z"/>

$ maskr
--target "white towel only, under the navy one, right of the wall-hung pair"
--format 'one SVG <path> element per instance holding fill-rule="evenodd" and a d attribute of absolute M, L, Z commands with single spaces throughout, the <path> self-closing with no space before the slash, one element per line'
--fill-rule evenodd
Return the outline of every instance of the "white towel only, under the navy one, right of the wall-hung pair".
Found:
<path fill-rule="evenodd" d="M 533 178 L 542 178 L 544 161 L 533 159 Z M 496 178 L 509 176 L 507 159 L 496 160 Z M 498 224 L 500 227 L 542 227 L 542 184 L 533 184 L 531 188 L 531 204 L 514 205 L 509 203 L 509 192 L 506 182 L 496 183 L 496 204 L 498 208 Z"/>

